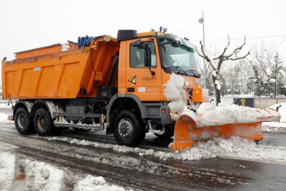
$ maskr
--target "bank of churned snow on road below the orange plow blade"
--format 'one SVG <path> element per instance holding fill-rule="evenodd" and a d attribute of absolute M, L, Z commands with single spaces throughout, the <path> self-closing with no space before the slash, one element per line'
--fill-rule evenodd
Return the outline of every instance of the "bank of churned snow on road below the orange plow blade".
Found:
<path fill-rule="evenodd" d="M 286 147 L 256 145 L 252 140 L 239 137 L 213 138 L 207 143 L 198 143 L 194 147 L 179 152 L 179 155 L 183 160 L 220 156 L 251 161 L 286 163 Z"/>

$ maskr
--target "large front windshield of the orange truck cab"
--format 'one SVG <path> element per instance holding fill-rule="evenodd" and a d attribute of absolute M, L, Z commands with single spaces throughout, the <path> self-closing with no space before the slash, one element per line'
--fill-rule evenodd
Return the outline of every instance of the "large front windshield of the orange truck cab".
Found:
<path fill-rule="evenodd" d="M 162 67 L 166 72 L 182 73 L 184 75 L 198 75 L 197 64 L 195 59 L 195 50 L 188 46 L 180 44 L 179 47 L 173 47 L 171 44 L 165 44 L 171 42 L 170 39 L 160 39 L 160 51 L 162 54 Z M 164 45 L 162 45 L 164 44 Z"/>

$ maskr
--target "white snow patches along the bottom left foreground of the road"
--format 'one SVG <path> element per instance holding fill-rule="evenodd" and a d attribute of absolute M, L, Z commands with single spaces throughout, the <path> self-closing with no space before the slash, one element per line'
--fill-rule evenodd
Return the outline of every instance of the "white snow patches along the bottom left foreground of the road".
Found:
<path fill-rule="evenodd" d="M 7 152 L 0 151 L 0 190 L 10 190 L 13 181 L 26 181 L 23 190 L 50 190 L 57 191 L 66 188 L 64 185 L 64 170 L 59 170 L 44 162 L 21 161 L 23 172 L 19 172 L 15 177 L 15 156 Z M 80 174 L 79 174 L 80 175 Z M 81 175 L 80 175 L 81 176 Z M 88 175 L 80 179 L 73 188 L 79 190 L 125 190 L 117 185 L 109 185 L 102 176 Z"/>

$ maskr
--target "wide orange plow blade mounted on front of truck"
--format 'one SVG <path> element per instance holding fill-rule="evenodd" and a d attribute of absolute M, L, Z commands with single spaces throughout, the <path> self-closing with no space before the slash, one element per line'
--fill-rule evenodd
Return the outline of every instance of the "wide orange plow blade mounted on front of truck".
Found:
<path fill-rule="evenodd" d="M 198 120 L 191 115 L 182 113 L 175 123 L 175 132 L 173 143 L 169 145 L 173 151 L 183 150 L 191 147 L 198 142 L 203 142 L 211 138 L 230 138 L 231 136 L 240 136 L 250 140 L 262 140 L 262 122 L 279 121 L 280 114 L 274 109 L 257 109 L 257 112 L 267 112 L 268 116 L 256 118 L 255 122 L 220 124 L 198 127 Z"/>

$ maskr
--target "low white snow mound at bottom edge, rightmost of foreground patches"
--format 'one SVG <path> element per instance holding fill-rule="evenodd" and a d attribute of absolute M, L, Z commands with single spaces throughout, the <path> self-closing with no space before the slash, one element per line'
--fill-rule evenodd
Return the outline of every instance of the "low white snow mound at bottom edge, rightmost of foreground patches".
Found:
<path fill-rule="evenodd" d="M 108 185 L 102 176 L 86 176 L 85 179 L 82 179 L 77 183 L 74 188 L 74 191 L 79 190 L 114 190 L 114 191 L 124 191 L 125 189 L 122 187 L 118 187 L 116 185 Z"/>

